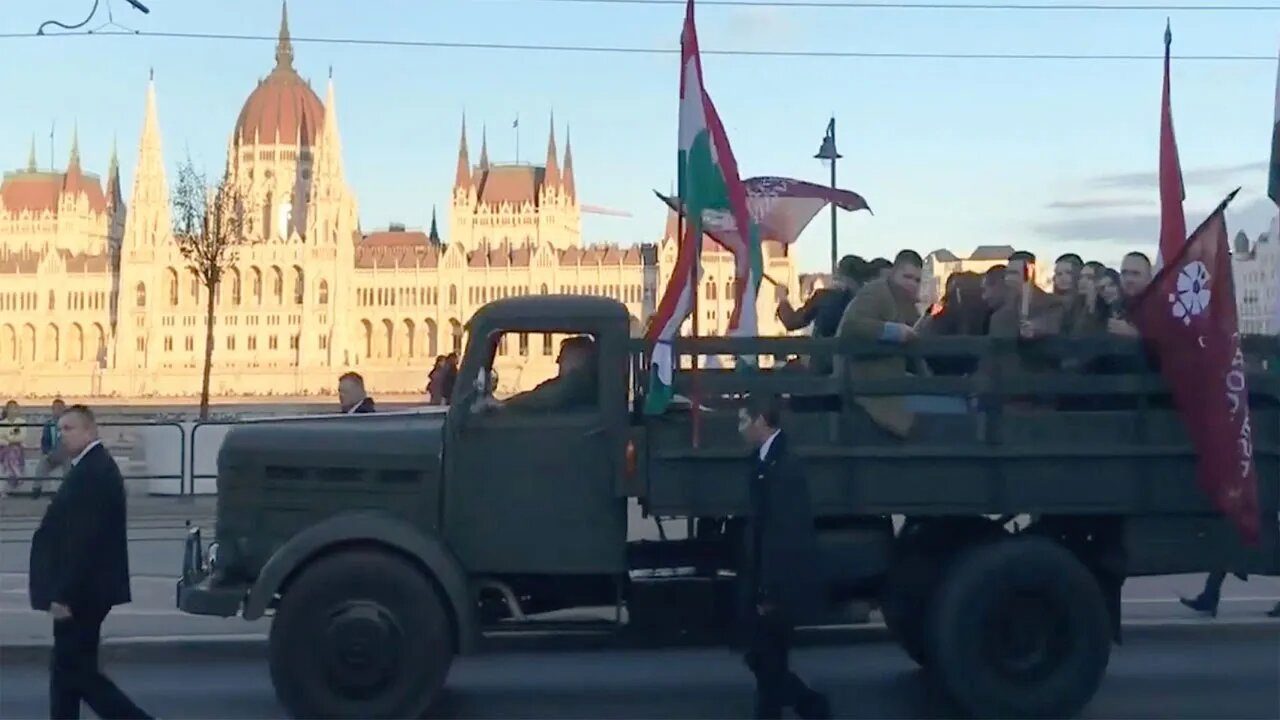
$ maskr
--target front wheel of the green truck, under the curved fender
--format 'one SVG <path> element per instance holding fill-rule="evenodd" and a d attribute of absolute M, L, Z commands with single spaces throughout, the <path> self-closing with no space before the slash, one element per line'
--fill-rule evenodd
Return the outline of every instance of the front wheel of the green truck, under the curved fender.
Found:
<path fill-rule="evenodd" d="M 367 550 L 305 568 L 285 588 L 269 646 L 275 694 L 293 717 L 419 717 L 454 653 L 431 579 Z"/>

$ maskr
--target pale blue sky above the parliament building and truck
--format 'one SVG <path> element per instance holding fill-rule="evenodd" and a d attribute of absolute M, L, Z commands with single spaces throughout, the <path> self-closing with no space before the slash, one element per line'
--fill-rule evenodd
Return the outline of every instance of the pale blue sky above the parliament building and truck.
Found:
<path fill-rule="evenodd" d="M 104 0 L 105 3 L 105 0 Z M 74 23 L 91 0 L 6 3 L 0 33 L 45 19 Z M 111 0 L 116 22 L 154 32 L 274 36 L 276 0 L 150 0 L 150 15 Z M 1258 5 L 1266 3 L 1257 3 Z M 1276 3 L 1280 9 L 1280 3 Z M 1276 54 L 1280 12 L 959 12 L 699 9 L 704 50 L 925 53 Z M 680 5 L 544 4 L 529 0 L 293 0 L 294 37 L 356 37 L 676 47 Z M 105 22 L 105 6 L 100 19 Z M 127 183 L 137 155 L 147 69 L 155 68 L 166 161 L 189 149 L 219 168 L 239 108 L 273 64 L 273 42 L 148 37 L 0 38 L 0 164 L 20 168 L 32 133 L 49 164 L 67 160 L 78 123 L 83 163 L 101 172 L 119 138 Z M 296 45 L 296 65 L 324 96 L 334 68 L 348 182 L 366 229 L 424 227 L 443 213 L 460 117 L 472 141 L 489 128 L 495 160 L 540 160 L 547 120 L 572 126 L 585 202 L 631 219 L 586 217 L 591 242 L 652 241 L 663 208 L 650 190 L 675 176 L 676 55 L 572 54 Z M 1149 250 L 1157 232 L 1158 60 L 924 60 L 707 56 L 705 82 L 745 176 L 824 182 L 812 156 L 828 115 L 840 124 L 841 186 L 874 217 L 842 215 L 841 251 L 888 255 L 1010 243 L 1075 250 L 1115 261 Z M 1265 192 L 1276 63 L 1175 61 L 1174 114 L 1188 174 L 1188 224 L 1236 184 L 1234 217 L 1253 234 L 1274 208 Z M 475 147 L 475 145 L 472 146 Z M 1057 206 L 1055 206 L 1057 204 Z M 828 224 L 801 238 L 805 269 L 822 269 Z M 448 240 L 448 238 L 445 238 Z"/>

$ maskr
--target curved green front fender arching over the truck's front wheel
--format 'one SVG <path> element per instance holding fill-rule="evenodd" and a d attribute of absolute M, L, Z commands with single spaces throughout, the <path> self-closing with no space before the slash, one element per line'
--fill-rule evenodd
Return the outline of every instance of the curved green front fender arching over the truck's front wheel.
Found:
<path fill-rule="evenodd" d="M 435 578 L 453 611 L 458 651 L 465 653 L 475 646 L 474 609 L 462 564 L 434 533 L 385 512 L 334 515 L 289 538 L 262 565 L 244 600 L 243 618 L 262 618 L 271 600 L 300 568 L 328 550 L 351 543 L 384 546 L 419 562 Z"/>

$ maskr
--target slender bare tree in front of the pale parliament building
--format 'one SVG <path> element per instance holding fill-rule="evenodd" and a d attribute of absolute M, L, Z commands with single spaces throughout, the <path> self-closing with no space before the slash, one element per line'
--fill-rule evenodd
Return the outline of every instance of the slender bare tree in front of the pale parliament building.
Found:
<path fill-rule="evenodd" d="M 246 199 L 224 177 L 209 184 L 191 158 L 178 167 L 173 195 L 174 241 L 189 264 L 192 275 L 205 288 L 205 368 L 200 386 L 200 419 L 209 418 L 209 380 L 214 366 L 214 310 L 223 275 L 236 263 L 244 224 L 250 217 Z"/>

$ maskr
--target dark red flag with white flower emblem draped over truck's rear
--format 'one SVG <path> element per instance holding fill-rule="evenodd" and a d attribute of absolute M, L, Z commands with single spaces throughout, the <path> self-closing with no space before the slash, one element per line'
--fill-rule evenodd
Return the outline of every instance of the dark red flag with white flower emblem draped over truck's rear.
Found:
<path fill-rule="evenodd" d="M 1224 217 L 1235 192 L 1169 256 L 1130 318 L 1155 350 L 1196 446 L 1201 489 L 1257 544 L 1258 475 Z"/>

